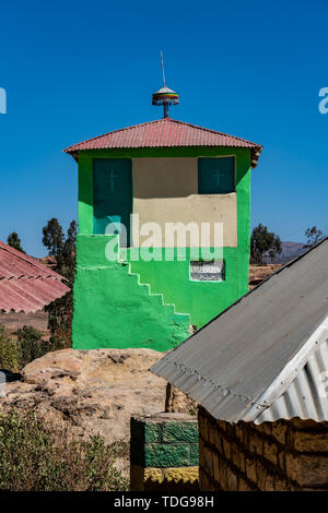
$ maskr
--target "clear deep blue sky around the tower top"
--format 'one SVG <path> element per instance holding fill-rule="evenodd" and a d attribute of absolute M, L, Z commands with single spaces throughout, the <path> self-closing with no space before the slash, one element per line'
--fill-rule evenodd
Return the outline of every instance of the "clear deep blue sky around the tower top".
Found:
<path fill-rule="evenodd" d="M 77 218 L 77 165 L 61 150 L 162 116 L 161 48 L 173 118 L 263 144 L 253 226 L 328 234 L 327 19 L 326 0 L 2 2 L 0 239 L 16 230 L 43 255 L 47 219 Z"/>

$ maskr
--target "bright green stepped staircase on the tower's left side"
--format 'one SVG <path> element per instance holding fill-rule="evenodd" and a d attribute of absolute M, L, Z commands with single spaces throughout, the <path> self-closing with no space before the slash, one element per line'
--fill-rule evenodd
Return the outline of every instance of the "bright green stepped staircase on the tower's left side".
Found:
<path fill-rule="evenodd" d="M 129 262 L 105 258 L 105 236 L 79 236 L 73 290 L 73 347 L 168 350 L 189 336 L 189 314 L 140 283 Z"/>

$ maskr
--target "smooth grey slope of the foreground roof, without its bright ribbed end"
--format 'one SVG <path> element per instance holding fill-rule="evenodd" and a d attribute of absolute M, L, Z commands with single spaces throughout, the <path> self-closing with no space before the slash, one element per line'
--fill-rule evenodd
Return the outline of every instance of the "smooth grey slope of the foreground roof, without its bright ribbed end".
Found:
<path fill-rule="evenodd" d="M 259 398 L 327 315 L 328 239 L 273 274 L 151 370 L 215 418 L 256 419 L 276 401 L 274 394 L 270 404 Z M 277 385 L 276 398 L 284 392 Z"/>

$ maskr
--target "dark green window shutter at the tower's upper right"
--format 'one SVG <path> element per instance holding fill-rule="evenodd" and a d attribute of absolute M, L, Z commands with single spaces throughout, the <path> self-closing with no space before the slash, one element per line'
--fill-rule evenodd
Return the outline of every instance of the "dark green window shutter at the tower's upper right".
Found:
<path fill-rule="evenodd" d="M 235 157 L 199 158 L 198 193 L 235 192 Z"/>

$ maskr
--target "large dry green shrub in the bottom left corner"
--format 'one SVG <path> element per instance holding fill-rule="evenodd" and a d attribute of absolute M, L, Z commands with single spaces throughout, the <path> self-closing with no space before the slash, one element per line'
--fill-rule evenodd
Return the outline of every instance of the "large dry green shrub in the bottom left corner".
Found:
<path fill-rule="evenodd" d="M 0 490 L 120 491 L 128 481 L 115 468 L 125 442 L 106 445 L 101 437 L 72 440 L 52 432 L 32 414 L 0 416 Z"/>

